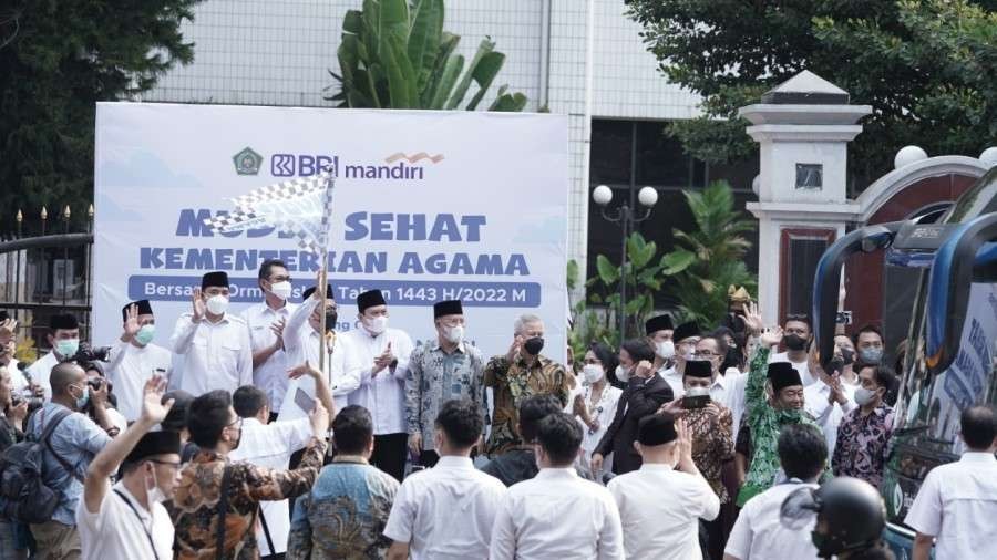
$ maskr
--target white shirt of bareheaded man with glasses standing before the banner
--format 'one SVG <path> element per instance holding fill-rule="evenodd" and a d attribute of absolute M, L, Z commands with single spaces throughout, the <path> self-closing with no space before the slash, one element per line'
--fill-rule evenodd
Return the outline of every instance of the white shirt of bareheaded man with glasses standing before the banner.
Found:
<path fill-rule="evenodd" d="M 270 326 L 281 319 L 287 321 L 297 308 L 298 305 L 285 301 L 282 308 L 274 310 L 264 301 L 239 313 L 239 318 L 249 326 L 249 346 L 253 349 L 253 352 L 273 346 L 274 342 L 277 341 L 277 335 L 274 334 Z M 285 340 L 286 345 L 287 341 Z M 253 384 L 267 394 L 270 409 L 274 412 L 280 412 L 280 404 L 284 403 L 284 393 L 287 391 L 288 383 L 287 370 L 289 367 L 285 351 L 277 350 L 264 363 L 253 370 Z"/>

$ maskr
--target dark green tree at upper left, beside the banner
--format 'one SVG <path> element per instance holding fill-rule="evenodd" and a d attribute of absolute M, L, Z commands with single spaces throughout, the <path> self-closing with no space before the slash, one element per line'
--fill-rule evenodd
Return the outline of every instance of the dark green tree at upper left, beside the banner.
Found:
<path fill-rule="evenodd" d="M 95 103 L 148 91 L 194 59 L 201 0 L 12 0 L 0 7 L 0 231 L 18 208 L 93 200 Z M 25 219 L 25 226 L 34 225 Z"/>

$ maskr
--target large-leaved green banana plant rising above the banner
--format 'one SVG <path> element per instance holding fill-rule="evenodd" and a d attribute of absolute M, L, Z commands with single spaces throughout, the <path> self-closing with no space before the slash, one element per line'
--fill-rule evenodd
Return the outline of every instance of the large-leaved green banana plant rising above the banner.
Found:
<path fill-rule="evenodd" d="M 474 111 L 505 63 L 505 54 L 485 38 L 466 64 L 458 54 L 460 35 L 443 31 L 443 0 L 363 0 L 342 21 L 337 51 L 340 73 L 325 97 L 340 107 Z M 464 104 L 472 82 L 477 91 Z M 518 112 L 522 93 L 498 87 L 489 111 Z"/>

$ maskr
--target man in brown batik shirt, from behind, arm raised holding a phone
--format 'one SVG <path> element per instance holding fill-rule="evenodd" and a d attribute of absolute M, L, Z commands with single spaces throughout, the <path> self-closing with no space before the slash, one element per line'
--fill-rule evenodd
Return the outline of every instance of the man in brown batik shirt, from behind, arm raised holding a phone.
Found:
<path fill-rule="evenodd" d="M 311 414 L 314 437 L 295 470 L 229 463 L 228 453 L 239 446 L 241 425 L 225 391 L 210 391 L 191 403 L 187 426 L 201 450 L 181 470 L 173 501 L 166 505 L 181 560 L 259 558 L 255 529 L 259 502 L 307 492 L 322 466 L 329 413 L 320 403 Z M 219 510 L 225 511 L 222 526 Z"/>

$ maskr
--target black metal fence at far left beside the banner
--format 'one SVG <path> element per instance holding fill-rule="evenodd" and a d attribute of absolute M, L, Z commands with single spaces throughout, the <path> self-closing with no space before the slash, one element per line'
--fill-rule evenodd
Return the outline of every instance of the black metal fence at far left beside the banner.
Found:
<path fill-rule="evenodd" d="M 42 207 L 34 214 L 40 228 L 25 228 L 19 209 L 14 232 L 0 238 L 0 309 L 18 320 L 18 340 L 30 336 L 38 350 L 49 349 L 49 320 L 58 313 L 76 315 L 80 339 L 90 335 L 93 205 L 84 231 L 71 231 L 72 211 L 66 206 L 52 219 Z M 24 229 L 40 235 L 24 237 Z"/>

